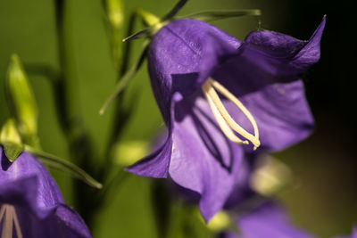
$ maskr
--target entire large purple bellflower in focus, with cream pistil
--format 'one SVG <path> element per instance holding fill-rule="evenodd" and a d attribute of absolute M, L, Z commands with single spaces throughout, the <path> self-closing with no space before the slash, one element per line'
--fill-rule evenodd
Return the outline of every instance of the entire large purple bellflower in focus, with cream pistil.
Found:
<path fill-rule="evenodd" d="M 300 74 L 319 60 L 324 26 L 325 18 L 308 41 L 258 30 L 244 42 L 203 21 L 162 27 L 149 48 L 148 70 L 169 132 L 128 170 L 170 174 L 200 194 L 209 220 L 228 199 L 245 153 L 281 150 L 311 134 Z"/>

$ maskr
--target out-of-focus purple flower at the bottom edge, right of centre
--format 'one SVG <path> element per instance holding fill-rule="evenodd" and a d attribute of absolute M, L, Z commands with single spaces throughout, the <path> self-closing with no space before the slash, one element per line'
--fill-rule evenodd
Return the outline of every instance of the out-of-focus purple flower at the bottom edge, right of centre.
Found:
<path fill-rule="evenodd" d="M 221 238 L 313 238 L 311 234 L 293 226 L 278 204 L 266 202 L 237 217 L 238 234 L 226 233 Z"/>

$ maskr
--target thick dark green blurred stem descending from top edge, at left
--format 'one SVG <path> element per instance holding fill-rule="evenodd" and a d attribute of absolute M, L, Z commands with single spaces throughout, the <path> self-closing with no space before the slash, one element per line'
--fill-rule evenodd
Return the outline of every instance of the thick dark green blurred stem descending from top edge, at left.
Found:
<path fill-rule="evenodd" d="M 95 174 L 92 144 L 87 129 L 83 126 L 79 104 L 79 82 L 76 75 L 74 53 L 71 45 L 71 29 L 68 29 L 71 14 L 66 12 L 70 1 L 54 0 L 55 18 L 58 37 L 58 53 L 60 62 L 60 76 L 54 83 L 54 94 L 58 118 L 70 148 L 71 160 L 75 160 L 80 168 L 89 174 Z M 93 190 L 78 181 L 74 181 L 73 193 L 75 206 L 86 220 L 88 226 L 95 213 L 93 206 Z M 83 199 L 85 198 L 85 199 Z M 91 209 L 87 209 L 91 208 Z"/>

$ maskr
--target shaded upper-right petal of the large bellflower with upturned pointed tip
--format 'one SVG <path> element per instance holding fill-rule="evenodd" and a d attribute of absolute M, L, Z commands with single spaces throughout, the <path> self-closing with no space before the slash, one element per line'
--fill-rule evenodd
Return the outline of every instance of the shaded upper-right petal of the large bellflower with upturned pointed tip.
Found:
<path fill-rule="evenodd" d="M 211 77 L 239 98 L 271 84 L 298 80 L 300 74 L 320 59 L 324 26 L 325 18 L 309 41 L 268 30 L 253 31 L 238 53 L 213 71 Z M 215 42 L 219 45 L 218 39 Z"/>

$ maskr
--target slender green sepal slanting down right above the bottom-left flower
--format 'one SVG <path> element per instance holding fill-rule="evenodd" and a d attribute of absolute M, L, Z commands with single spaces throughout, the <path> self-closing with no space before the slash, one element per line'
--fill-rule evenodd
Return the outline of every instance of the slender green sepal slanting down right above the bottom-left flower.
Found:
<path fill-rule="evenodd" d="M 68 173 L 70 176 L 76 177 L 96 189 L 101 189 L 103 187 L 101 183 L 96 181 L 92 176 L 89 176 L 86 171 L 72 164 L 68 160 L 63 160 L 53 154 L 39 151 L 29 145 L 25 145 L 25 151 L 37 157 L 38 160 L 50 168 L 55 168 L 64 173 Z"/>

